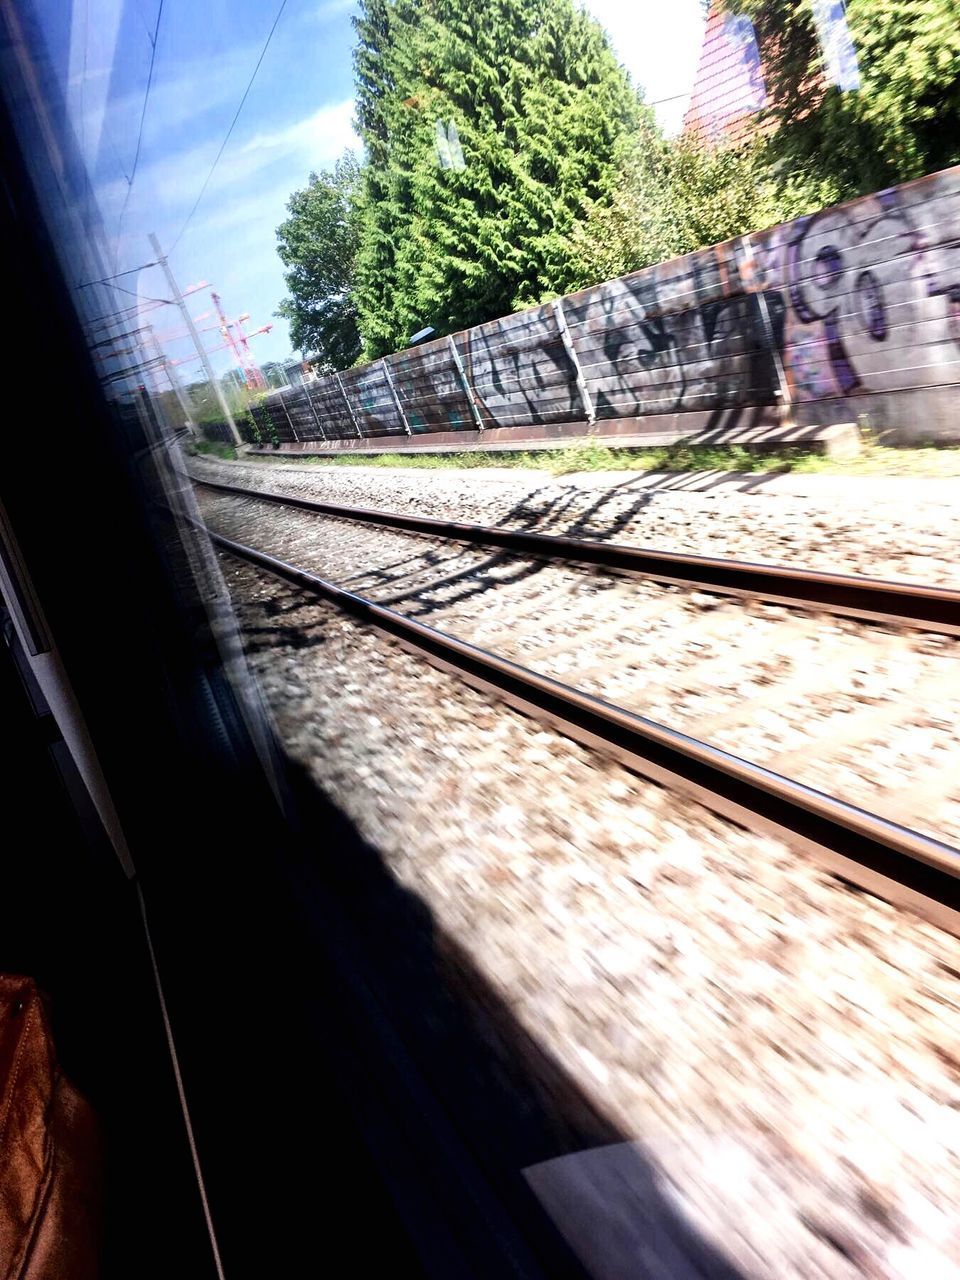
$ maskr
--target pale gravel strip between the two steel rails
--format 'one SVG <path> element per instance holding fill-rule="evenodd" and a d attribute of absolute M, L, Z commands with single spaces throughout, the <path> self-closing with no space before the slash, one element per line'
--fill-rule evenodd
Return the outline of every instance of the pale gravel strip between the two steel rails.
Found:
<path fill-rule="evenodd" d="M 960 845 L 957 637 L 200 493 L 228 536 Z"/>

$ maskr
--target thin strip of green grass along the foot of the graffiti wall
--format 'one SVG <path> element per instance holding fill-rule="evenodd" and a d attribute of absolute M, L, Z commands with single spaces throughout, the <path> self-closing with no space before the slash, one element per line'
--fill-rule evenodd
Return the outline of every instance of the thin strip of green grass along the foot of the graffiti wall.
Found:
<path fill-rule="evenodd" d="M 227 449 L 206 445 L 202 452 Z M 233 451 L 229 451 L 230 456 Z M 219 454 L 218 457 L 225 457 Z M 324 467 L 390 467 L 412 471 L 448 471 L 497 467 L 535 470 L 550 475 L 576 471 L 794 471 L 824 475 L 960 476 L 960 448 L 886 448 L 865 443 L 856 458 L 835 460 L 809 449 L 759 453 L 740 445 L 673 444 L 652 449 L 618 449 L 595 439 L 576 440 L 561 449 L 530 449 L 524 453 L 342 453 L 334 457 L 274 454 L 275 462 Z"/>

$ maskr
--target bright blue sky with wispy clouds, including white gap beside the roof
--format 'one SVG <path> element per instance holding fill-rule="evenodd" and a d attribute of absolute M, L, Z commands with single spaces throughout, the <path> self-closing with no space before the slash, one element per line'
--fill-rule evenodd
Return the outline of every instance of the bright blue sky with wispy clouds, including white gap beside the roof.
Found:
<path fill-rule="evenodd" d="M 677 132 L 700 51 L 700 0 L 582 3 L 664 128 Z M 102 212 L 108 271 L 150 262 L 155 232 L 184 292 L 210 282 L 229 317 L 250 314 L 248 332 L 273 324 L 251 340 L 261 364 L 289 355 L 287 324 L 274 316 L 285 292 L 275 229 L 312 170 L 347 147 L 360 150 L 356 0 L 288 0 L 212 177 L 279 0 L 74 0 L 69 10 L 61 0 L 38 0 L 38 8 Z M 118 306 L 129 301 L 120 287 L 141 298 L 168 296 L 156 266 L 116 285 Z M 191 310 L 205 317 L 201 325 L 212 323 L 209 288 L 191 298 Z M 152 307 L 143 320 L 183 360 L 183 379 L 200 376 L 189 340 L 178 337 L 177 311 Z M 214 349 L 216 330 L 204 340 L 219 372 L 234 364 L 229 351 Z"/>

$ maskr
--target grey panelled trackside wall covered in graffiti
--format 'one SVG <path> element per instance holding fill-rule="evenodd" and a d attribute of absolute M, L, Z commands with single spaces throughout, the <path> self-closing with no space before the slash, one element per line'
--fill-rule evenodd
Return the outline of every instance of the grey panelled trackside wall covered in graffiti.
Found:
<path fill-rule="evenodd" d="M 955 385 L 960 169 L 608 280 L 561 312 L 566 338 L 550 306 L 454 335 L 485 426 L 582 420 L 588 399 L 609 420 Z M 413 431 L 472 426 L 449 347 L 392 361 L 393 385 L 381 361 L 344 372 L 343 392 L 314 385 L 328 438 L 403 433 L 397 399 Z"/>

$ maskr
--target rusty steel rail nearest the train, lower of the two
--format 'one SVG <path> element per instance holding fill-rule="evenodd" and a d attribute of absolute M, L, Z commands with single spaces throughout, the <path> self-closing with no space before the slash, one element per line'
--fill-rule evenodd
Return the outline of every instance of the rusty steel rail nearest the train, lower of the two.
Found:
<path fill-rule="evenodd" d="M 774 833 L 832 872 L 960 933 L 960 850 L 740 759 L 347 591 L 221 534 L 214 543 L 319 595 L 485 694 L 708 808 Z"/>

